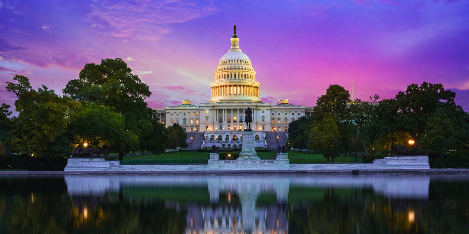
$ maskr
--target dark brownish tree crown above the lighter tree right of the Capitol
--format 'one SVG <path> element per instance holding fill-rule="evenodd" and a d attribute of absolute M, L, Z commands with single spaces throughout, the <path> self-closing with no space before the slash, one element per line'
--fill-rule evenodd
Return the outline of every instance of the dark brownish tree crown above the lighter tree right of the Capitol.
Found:
<path fill-rule="evenodd" d="M 340 85 L 330 85 L 325 95 L 318 98 L 313 116 L 316 121 L 322 120 L 326 114 L 332 115 L 337 122 L 349 119 L 347 105 L 350 102 L 348 90 Z"/>

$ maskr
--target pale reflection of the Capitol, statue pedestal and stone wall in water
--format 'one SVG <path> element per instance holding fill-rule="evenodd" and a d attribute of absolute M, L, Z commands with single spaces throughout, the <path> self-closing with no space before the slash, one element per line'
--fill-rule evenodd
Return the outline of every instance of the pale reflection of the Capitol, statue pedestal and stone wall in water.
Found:
<path fill-rule="evenodd" d="M 187 211 L 187 234 L 288 233 L 290 187 L 372 188 L 384 197 L 427 199 L 428 176 L 65 176 L 72 197 L 118 193 L 123 187 L 208 187 L 209 204 L 171 203 Z M 263 195 L 268 202 L 259 204 Z M 275 196 L 272 196 L 275 195 Z M 187 195 L 190 196 L 190 195 Z M 276 197 L 275 199 L 273 197 Z"/>

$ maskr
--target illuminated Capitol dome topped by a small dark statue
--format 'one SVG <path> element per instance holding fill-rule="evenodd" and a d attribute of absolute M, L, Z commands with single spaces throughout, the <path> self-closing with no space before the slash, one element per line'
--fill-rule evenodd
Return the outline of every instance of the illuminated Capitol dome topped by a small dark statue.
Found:
<path fill-rule="evenodd" d="M 236 25 L 230 40 L 231 48 L 221 57 L 215 70 L 209 102 L 261 102 L 256 72 L 249 57 L 239 48 Z"/>

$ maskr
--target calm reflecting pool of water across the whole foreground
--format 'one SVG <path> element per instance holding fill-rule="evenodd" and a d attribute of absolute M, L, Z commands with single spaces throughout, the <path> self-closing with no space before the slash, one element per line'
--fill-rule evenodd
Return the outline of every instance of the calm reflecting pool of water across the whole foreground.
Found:
<path fill-rule="evenodd" d="M 0 177 L 0 233 L 469 233 L 469 176 Z"/>

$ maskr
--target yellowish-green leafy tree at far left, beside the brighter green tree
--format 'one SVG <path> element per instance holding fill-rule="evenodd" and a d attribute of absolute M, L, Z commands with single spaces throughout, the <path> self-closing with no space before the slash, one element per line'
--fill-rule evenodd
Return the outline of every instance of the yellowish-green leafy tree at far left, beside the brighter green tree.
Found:
<path fill-rule="evenodd" d="M 44 155 L 47 147 L 66 131 L 68 106 L 44 85 L 37 91 L 31 88 L 25 76 L 16 75 L 13 80 L 17 83 L 7 82 L 7 90 L 18 98 L 18 117 L 10 131 L 9 146 L 16 152 Z"/>

